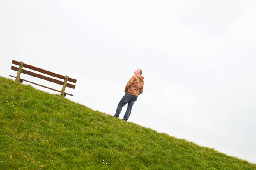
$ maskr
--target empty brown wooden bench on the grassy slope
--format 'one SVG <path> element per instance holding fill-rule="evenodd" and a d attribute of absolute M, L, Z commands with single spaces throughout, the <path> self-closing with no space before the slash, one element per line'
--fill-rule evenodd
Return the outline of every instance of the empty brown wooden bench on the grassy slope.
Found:
<path fill-rule="evenodd" d="M 11 67 L 11 70 L 14 70 L 14 71 L 17 71 L 17 72 L 18 72 L 16 77 L 10 75 L 11 77 L 16 78 L 16 79 L 15 79 L 16 82 L 21 82 L 21 83 L 22 83 L 23 81 L 25 81 L 25 82 L 29 82 L 29 83 L 32 83 L 32 84 L 35 84 L 35 85 L 39 85 L 39 86 L 44 87 L 44 88 L 48 88 L 48 89 L 51 89 L 51 90 L 54 90 L 54 91 L 58 91 L 58 92 L 61 93 L 61 96 L 62 96 L 62 97 L 65 97 L 66 95 L 74 96 L 73 94 L 65 93 L 65 89 L 66 89 L 66 87 L 75 89 L 76 85 L 70 84 L 70 83 L 68 83 L 68 81 L 69 81 L 69 82 L 76 83 L 76 79 L 72 79 L 72 78 L 70 78 L 70 77 L 68 77 L 68 76 L 62 76 L 62 75 L 60 75 L 60 74 L 56 74 L 56 73 L 52 73 L 52 72 L 47 71 L 47 70 L 43 70 L 43 69 L 41 69 L 41 68 L 37 68 L 37 67 L 34 67 L 34 66 L 32 66 L 32 65 L 25 64 L 25 63 L 22 62 L 22 61 L 21 61 L 21 62 L 18 62 L 18 61 L 12 60 L 12 64 L 15 64 L 15 65 L 19 65 L 19 66 L 20 66 L 19 68 L 15 67 L 15 66 L 12 66 L 12 67 Z M 23 67 L 24 67 L 24 68 L 28 68 L 28 69 L 33 70 L 33 71 L 38 71 L 38 72 L 40 72 L 40 73 L 44 73 L 44 74 L 50 75 L 50 76 L 52 76 L 52 77 L 57 77 L 57 78 L 59 78 L 59 79 L 63 79 L 64 82 L 62 82 L 62 81 L 60 81 L 60 80 L 57 80 L 57 79 L 52 79 L 52 78 L 50 78 L 50 77 L 43 76 L 43 75 L 41 75 L 41 74 L 37 74 L 37 73 L 31 72 L 31 71 L 28 71 L 28 70 L 24 70 Z M 62 90 L 59 91 L 59 90 L 56 90 L 56 89 L 53 89 L 53 88 L 49 88 L 49 87 L 44 86 L 44 85 L 40 85 L 40 84 L 35 83 L 35 82 L 31 82 L 31 81 L 28 81 L 28 80 L 25 80 L 25 79 L 21 79 L 21 78 L 20 78 L 20 74 L 21 74 L 21 73 L 23 73 L 23 74 L 28 74 L 28 75 L 33 76 L 33 77 L 37 77 L 37 78 L 40 78 L 40 79 L 47 80 L 47 81 L 49 81 L 49 82 L 54 82 L 54 83 L 56 83 L 56 84 L 62 85 Z"/>

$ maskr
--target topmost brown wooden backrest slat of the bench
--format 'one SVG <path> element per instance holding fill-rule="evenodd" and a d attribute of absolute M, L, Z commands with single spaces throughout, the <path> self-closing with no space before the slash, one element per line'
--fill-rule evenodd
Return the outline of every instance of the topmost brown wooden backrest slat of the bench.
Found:
<path fill-rule="evenodd" d="M 15 64 L 15 65 L 20 65 L 20 62 L 18 61 L 15 61 L 15 60 L 12 60 L 12 64 Z M 53 73 L 51 71 L 47 71 L 47 70 L 44 70 L 44 69 L 41 69 L 41 68 L 37 68 L 37 67 L 34 67 L 32 65 L 28 65 L 28 64 L 23 64 L 23 67 L 25 68 L 29 68 L 31 70 L 34 70 L 34 71 L 38 71 L 40 73 L 44 73 L 44 74 L 47 74 L 47 75 L 50 75 L 50 76 L 53 76 L 53 77 L 57 77 L 59 79 L 65 79 L 65 76 L 62 76 L 60 74 L 56 74 L 56 73 Z M 76 79 L 72 79 L 72 78 L 68 78 L 68 81 L 69 82 L 73 82 L 73 83 L 76 83 Z"/>

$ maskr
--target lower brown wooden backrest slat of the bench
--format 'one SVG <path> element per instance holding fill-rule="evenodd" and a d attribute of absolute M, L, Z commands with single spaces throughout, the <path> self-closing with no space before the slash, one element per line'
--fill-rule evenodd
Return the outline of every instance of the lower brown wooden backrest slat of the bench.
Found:
<path fill-rule="evenodd" d="M 12 66 L 11 70 L 18 71 L 19 68 L 15 67 L 15 66 Z M 58 85 L 63 85 L 63 83 L 64 83 L 64 82 L 61 82 L 60 80 L 52 79 L 50 77 L 46 77 L 46 76 L 43 76 L 41 74 L 33 73 L 31 71 L 27 71 L 27 70 L 24 70 L 24 69 L 22 69 L 21 73 L 28 74 L 30 76 L 37 77 L 39 79 L 44 79 L 44 80 L 47 80 L 49 82 L 54 82 L 54 83 L 56 83 Z M 67 87 L 74 89 L 76 87 L 76 85 L 72 85 L 72 84 L 67 83 Z"/>

